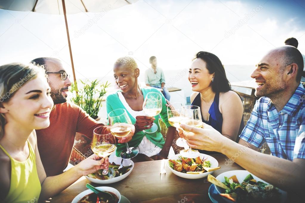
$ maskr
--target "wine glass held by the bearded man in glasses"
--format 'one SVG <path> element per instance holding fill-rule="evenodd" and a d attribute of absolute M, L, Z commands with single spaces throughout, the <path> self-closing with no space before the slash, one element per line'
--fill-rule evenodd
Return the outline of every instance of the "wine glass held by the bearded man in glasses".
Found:
<path fill-rule="evenodd" d="M 119 108 L 109 112 L 108 118 L 110 120 L 110 132 L 119 138 L 127 136 L 132 130 L 131 120 L 125 109 Z M 138 155 L 139 150 L 134 147 L 129 147 L 127 143 L 126 150 L 120 153 L 122 159 L 131 159 Z"/>

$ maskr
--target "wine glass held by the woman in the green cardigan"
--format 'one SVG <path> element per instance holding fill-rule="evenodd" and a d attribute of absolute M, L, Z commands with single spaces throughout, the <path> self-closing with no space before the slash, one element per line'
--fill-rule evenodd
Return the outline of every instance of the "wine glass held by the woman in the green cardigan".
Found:
<path fill-rule="evenodd" d="M 143 103 L 143 110 L 146 115 L 154 117 L 158 115 L 162 110 L 162 97 L 158 92 L 149 92 Z M 156 132 L 158 126 L 155 123 L 152 123 L 150 129 L 143 130 L 147 133 Z"/>

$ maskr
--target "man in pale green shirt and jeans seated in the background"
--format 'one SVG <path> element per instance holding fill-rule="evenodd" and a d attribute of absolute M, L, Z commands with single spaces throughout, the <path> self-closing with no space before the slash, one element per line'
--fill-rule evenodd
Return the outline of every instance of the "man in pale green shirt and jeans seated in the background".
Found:
<path fill-rule="evenodd" d="M 160 67 L 157 67 L 157 58 L 155 56 L 150 57 L 149 63 L 151 64 L 151 67 L 144 73 L 146 86 L 162 89 L 164 97 L 170 101 L 170 93 L 165 87 L 163 70 Z"/>

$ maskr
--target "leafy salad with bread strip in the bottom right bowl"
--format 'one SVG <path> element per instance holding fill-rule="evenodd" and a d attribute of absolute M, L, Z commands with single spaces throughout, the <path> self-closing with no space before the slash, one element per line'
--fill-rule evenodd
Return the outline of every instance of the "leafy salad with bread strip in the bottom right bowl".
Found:
<path fill-rule="evenodd" d="M 207 180 L 218 187 L 224 188 L 225 193 L 220 195 L 234 202 L 279 202 L 281 198 L 278 188 L 271 184 L 256 181 L 251 174 L 247 175 L 242 183 L 239 183 L 235 175 L 229 178 L 224 177 L 225 181 L 221 182 L 209 174 Z"/>

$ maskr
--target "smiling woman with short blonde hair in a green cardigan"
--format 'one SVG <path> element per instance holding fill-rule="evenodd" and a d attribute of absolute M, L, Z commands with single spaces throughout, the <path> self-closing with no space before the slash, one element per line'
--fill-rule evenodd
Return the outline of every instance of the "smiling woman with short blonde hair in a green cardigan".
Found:
<path fill-rule="evenodd" d="M 139 154 L 133 158 L 134 161 L 167 159 L 176 128 L 170 126 L 168 122 L 166 100 L 162 93 L 156 88 L 140 88 L 138 85 L 139 74 L 138 65 L 132 57 L 121 57 L 115 62 L 113 75 L 120 91 L 106 98 L 107 114 L 114 109 L 126 109 L 131 122 L 135 125 L 135 134 L 128 142 L 128 146 L 139 150 Z M 168 128 L 166 141 L 161 134 L 158 122 L 159 115 L 155 117 L 147 116 L 142 108 L 145 95 L 151 91 L 158 92 L 162 96 L 160 116 Z M 158 126 L 158 130 L 154 133 L 143 132 L 144 129 L 150 129 L 153 122 Z M 126 149 L 125 144 L 118 143 L 116 155 L 119 157 L 120 152 L 124 149 Z"/>

